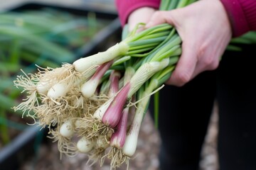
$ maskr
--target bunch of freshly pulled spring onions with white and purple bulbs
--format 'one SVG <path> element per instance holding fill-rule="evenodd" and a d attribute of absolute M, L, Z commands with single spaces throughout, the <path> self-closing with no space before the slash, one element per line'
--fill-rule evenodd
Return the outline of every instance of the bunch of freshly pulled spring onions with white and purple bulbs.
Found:
<path fill-rule="evenodd" d="M 193 1 L 163 1 L 160 10 Z M 143 26 L 143 24 L 139 24 Z M 149 98 L 161 90 L 181 55 L 181 38 L 167 23 L 137 33 L 104 52 L 41 68 L 17 77 L 15 86 L 27 97 L 14 107 L 49 128 L 60 156 L 85 153 L 88 163 L 110 159 L 110 168 L 129 164 Z"/>

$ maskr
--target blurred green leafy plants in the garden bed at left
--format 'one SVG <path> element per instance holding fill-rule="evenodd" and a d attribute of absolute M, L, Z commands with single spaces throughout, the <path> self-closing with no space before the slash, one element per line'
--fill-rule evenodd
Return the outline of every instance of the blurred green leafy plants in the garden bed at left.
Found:
<path fill-rule="evenodd" d="M 36 72 L 36 64 L 55 68 L 73 62 L 82 57 L 80 48 L 109 22 L 95 13 L 77 16 L 55 8 L 0 13 L 0 147 L 11 141 L 9 128 L 26 128 L 9 119 L 22 114 L 11 109 L 21 100 L 21 90 L 13 85 L 21 69 Z"/>

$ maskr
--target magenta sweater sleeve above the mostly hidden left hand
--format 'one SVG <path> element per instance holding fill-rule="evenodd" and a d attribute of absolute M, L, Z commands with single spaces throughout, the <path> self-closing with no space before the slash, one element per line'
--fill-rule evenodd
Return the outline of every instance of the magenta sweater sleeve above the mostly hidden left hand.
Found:
<path fill-rule="evenodd" d="M 159 8 L 160 0 L 115 0 L 115 4 L 121 24 L 124 26 L 132 11 L 142 6 Z"/>

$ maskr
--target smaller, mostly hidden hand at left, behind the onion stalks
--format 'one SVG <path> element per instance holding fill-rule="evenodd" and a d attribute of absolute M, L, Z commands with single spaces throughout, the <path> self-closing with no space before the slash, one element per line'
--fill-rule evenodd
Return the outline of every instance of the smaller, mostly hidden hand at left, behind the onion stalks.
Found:
<path fill-rule="evenodd" d="M 137 8 L 136 10 L 132 11 L 132 13 L 129 15 L 127 22 L 129 26 L 129 32 L 131 32 L 138 23 L 148 23 L 149 19 L 155 11 L 156 9 L 151 7 Z M 139 32 L 139 30 L 137 31 Z"/>

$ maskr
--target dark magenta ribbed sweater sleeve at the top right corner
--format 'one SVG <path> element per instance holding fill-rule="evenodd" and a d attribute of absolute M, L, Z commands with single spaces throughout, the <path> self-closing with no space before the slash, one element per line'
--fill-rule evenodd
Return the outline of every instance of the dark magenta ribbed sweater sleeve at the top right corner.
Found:
<path fill-rule="evenodd" d="M 220 0 L 228 13 L 233 37 L 256 30 L 256 0 Z"/>

